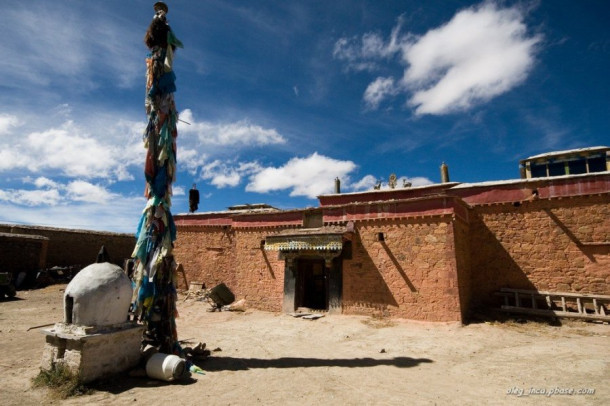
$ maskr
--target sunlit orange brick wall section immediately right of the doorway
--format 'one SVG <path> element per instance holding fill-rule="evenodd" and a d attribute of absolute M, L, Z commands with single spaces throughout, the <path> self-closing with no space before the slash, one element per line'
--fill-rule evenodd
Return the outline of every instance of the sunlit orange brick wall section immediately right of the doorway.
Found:
<path fill-rule="evenodd" d="M 461 320 L 450 216 L 355 226 L 352 260 L 343 262 L 344 313 Z"/>

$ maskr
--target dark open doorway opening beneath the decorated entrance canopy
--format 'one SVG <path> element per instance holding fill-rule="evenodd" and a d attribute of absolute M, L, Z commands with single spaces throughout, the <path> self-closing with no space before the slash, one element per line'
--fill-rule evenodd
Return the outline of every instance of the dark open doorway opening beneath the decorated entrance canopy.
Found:
<path fill-rule="evenodd" d="M 323 259 L 299 259 L 295 307 L 328 310 L 328 271 Z"/>

